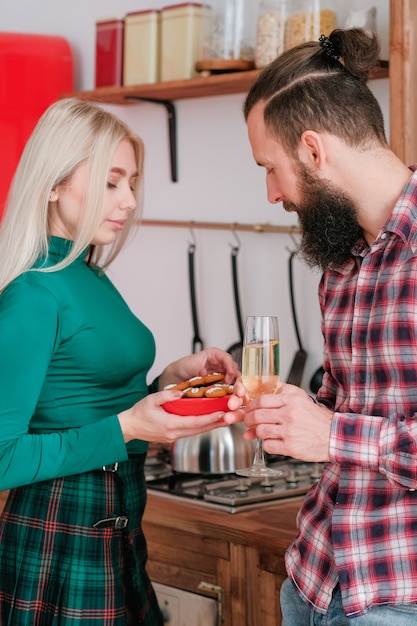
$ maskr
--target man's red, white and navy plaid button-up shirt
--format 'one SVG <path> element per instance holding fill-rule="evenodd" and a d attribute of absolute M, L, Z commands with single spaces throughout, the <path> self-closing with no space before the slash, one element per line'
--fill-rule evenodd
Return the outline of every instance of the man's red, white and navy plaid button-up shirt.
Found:
<path fill-rule="evenodd" d="M 302 597 L 347 615 L 417 603 L 417 171 L 371 247 L 320 283 L 326 374 L 336 411 L 330 458 L 286 555 Z"/>

